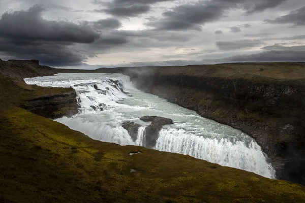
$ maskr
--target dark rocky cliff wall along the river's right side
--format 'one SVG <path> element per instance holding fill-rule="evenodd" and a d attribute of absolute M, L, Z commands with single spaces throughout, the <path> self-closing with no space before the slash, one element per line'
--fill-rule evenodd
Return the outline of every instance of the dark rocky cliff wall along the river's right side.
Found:
<path fill-rule="evenodd" d="M 126 74 L 142 90 L 248 133 L 270 157 L 279 179 L 305 184 L 304 80 L 260 73 L 261 66 L 267 66 L 280 75 L 276 65 L 249 65 L 253 70 L 247 67 L 248 75 L 234 75 L 236 70 L 227 65 L 161 67 Z"/>

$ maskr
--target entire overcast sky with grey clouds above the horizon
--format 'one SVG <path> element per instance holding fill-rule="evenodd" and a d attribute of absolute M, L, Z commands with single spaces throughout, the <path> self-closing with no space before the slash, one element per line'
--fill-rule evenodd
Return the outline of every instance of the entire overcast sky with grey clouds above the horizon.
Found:
<path fill-rule="evenodd" d="M 76 69 L 305 61 L 305 1 L 0 0 L 0 58 Z"/>

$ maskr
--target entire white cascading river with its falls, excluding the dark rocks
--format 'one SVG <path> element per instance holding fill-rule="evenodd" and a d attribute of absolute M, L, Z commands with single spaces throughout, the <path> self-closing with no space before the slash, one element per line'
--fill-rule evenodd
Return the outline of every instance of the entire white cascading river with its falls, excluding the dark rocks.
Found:
<path fill-rule="evenodd" d="M 142 116 L 170 118 L 174 124 L 162 128 L 155 149 L 190 156 L 275 178 L 275 171 L 257 143 L 230 126 L 200 117 L 196 112 L 168 103 L 158 96 L 133 87 L 121 74 L 58 74 L 25 79 L 27 84 L 73 87 L 80 105 L 79 114 L 56 121 L 89 137 L 119 145 L 143 146 L 145 127 Z M 126 91 L 126 92 L 124 92 Z M 128 94 L 127 92 L 130 92 Z M 121 124 L 142 125 L 134 142 Z"/>

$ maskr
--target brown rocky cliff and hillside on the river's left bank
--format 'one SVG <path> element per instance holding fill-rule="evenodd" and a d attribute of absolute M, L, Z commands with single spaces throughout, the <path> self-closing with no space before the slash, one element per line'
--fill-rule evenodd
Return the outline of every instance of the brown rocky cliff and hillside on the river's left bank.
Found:
<path fill-rule="evenodd" d="M 23 78 L 50 76 L 54 73 L 56 69 L 40 65 L 38 60 L 0 61 L 0 76 L 28 92 L 28 99 L 24 99 L 20 107 L 46 118 L 72 116 L 78 109 L 74 89 L 28 86 L 23 81 Z"/>

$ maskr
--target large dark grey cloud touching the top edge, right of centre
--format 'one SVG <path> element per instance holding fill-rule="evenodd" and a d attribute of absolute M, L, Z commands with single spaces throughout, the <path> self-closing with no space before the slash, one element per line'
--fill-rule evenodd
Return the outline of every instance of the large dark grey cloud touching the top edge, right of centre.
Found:
<path fill-rule="evenodd" d="M 285 1 L 287 0 L 201 0 L 176 6 L 172 10 L 164 12 L 162 18 L 151 19 L 146 25 L 158 30 L 201 30 L 202 25 L 219 20 L 230 9 L 243 9 L 248 14 L 252 14 L 275 8 Z M 245 28 L 250 26 L 250 24 L 243 25 Z"/>

